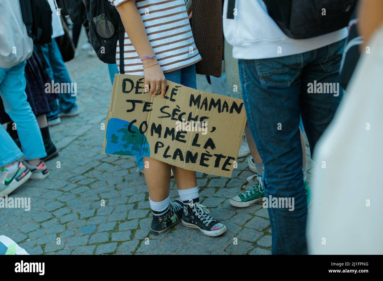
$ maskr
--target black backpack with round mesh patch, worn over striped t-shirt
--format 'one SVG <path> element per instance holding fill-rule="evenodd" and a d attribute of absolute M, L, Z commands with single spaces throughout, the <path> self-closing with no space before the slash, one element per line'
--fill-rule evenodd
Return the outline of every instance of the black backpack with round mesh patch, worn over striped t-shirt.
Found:
<path fill-rule="evenodd" d="M 117 41 L 123 54 L 125 29 L 116 8 L 108 0 L 85 0 L 85 10 L 90 28 L 90 39 L 97 57 L 105 63 L 116 63 Z M 122 55 L 121 55 L 122 57 Z M 123 73 L 123 60 L 120 60 Z"/>

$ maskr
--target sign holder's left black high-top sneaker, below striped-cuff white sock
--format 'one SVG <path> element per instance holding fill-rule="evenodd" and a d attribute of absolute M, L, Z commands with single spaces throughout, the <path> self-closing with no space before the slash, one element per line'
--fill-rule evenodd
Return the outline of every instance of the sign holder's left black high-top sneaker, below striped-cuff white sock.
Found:
<path fill-rule="evenodd" d="M 173 225 L 179 223 L 182 218 L 182 201 L 174 200 L 169 207 L 160 214 L 153 213 L 150 231 L 154 234 L 162 234 Z"/>

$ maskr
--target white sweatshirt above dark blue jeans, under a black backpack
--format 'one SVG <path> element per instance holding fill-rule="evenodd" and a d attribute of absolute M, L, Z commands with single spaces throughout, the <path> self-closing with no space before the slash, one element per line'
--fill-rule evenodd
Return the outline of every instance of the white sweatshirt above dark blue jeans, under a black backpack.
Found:
<path fill-rule="evenodd" d="M 268 15 L 262 0 L 237 0 L 237 15 L 228 19 L 228 0 L 223 8 L 225 39 L 233 57 L 245 60 L 285 57 L 315 50 L 347 37 L 347 28 L 309 39 L 291 39 Z"/>

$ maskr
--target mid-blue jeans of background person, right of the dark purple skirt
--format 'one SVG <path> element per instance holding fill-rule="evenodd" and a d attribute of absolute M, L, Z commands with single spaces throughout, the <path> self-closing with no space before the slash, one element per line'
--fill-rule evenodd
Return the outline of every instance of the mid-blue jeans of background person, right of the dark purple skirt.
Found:
<path fill-rule="evenodd" d="M 72 83 L 56 40 L 52 39 L 52 43 L 41 45 L 41 50 L 46 60 L 47 73 L 53 78 L 54 83 Z M 60 93 L 59 99 L 49 103 L 51 112 L 47 114 L 47 118 L 52 119 L 58 116 L 59 112 L 68 113 L 77 108 L 76 95 L 77 93 Z"/>

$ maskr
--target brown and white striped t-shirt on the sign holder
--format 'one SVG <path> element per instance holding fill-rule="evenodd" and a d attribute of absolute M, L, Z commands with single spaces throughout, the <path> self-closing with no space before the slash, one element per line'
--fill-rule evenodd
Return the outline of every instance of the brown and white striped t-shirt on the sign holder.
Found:
<path fill-rule="evenodd" d="M 134 0 L 109 0 L 115 6 L 126 1 Z M 191 32 L 185 0 L 136 0 L 136 6 L 156 58 L 164 72 L 187 67 L 201 60 Z M 119 44 L 118 42 L 116 52 L 118 69 Z M 144 75 L 141 59 L 126 32 L 123 58 L 125 74 Z"/>

